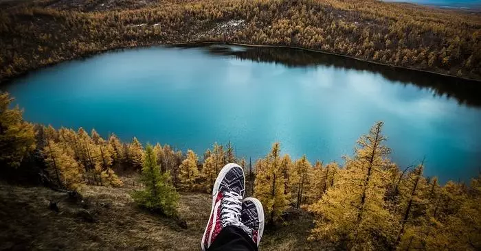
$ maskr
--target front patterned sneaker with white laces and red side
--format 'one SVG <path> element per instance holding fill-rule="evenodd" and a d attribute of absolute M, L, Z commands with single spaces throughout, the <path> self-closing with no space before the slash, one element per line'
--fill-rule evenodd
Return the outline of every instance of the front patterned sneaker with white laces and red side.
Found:
<path fill-rule="evenodd" d="M 219 232 L 226 226 L 244 227 L 240 222 L 240 210 L 245 190 L 244 170 L 237 164 L 225 165 L 217 176 L 212 189 L 212 209 L 209 222 L 202 236 L 201 248 L 207 250 Z"/>

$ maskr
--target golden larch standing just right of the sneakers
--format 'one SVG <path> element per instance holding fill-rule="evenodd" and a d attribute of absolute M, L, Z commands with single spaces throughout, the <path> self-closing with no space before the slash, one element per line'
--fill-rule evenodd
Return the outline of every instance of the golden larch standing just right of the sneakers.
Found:
<path fill-rule="evenodd" d="M 278 221 L 288 203 L 287 195 L 284 194 L 284 174 L 279 155 L 279 143 L 274 143 L 266 158 L 256 163 L 254 197 L 262 202 L 269 224 Z"/>

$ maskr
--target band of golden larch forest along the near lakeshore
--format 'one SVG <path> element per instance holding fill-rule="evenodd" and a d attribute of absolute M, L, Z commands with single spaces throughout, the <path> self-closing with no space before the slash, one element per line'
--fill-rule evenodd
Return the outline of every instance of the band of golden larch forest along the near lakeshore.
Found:
<path fill-rule="evenodd" d="M 8 93 L 0 95 L 3 179 L 82 193 L 82 187 L 122 187 L 121 177 L 133 174 L 143 184 L 131 194 L 140 208 L 179 219 L 179 193 L 208 193 L 223 165 L 236 162 L 245 168 L 246 196 L 262 202 L 271 229 L 282 226 L 289 211 L 306 212 L 313 227 L 305 237 L 324 248 L 481 248 L 481 176 L 471 184 L 440 184 L 423 175 L 422 161 L 399 167 L 390 160 L 382 121 L 359 137 L 344 163 L 293 159 L 281 154 L 280 143 L 247 161 L 231 143 L 181 152 L 135 138 L 122 142 L 115 134 L 104 139 L 96 130 L 32 124 L 11 102 Z"/>

